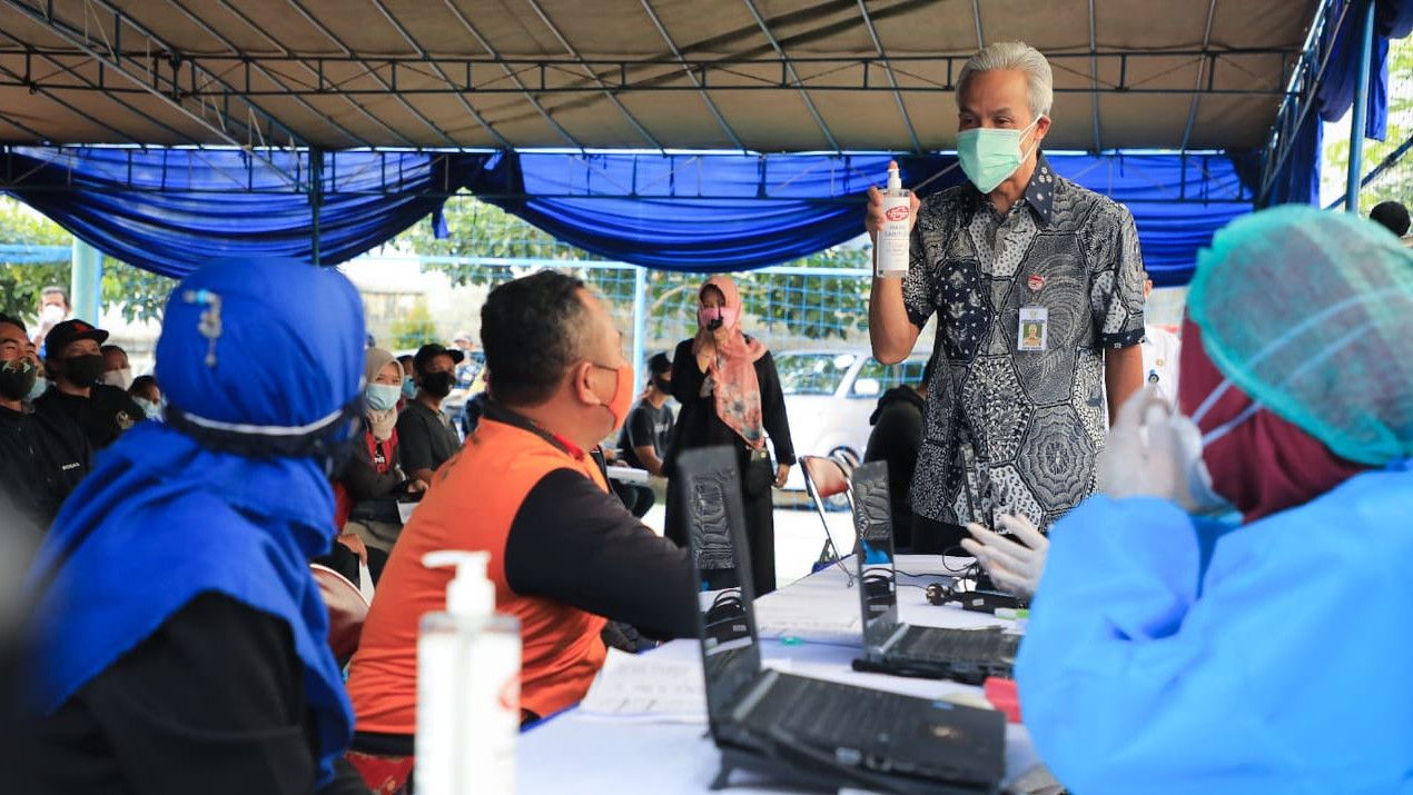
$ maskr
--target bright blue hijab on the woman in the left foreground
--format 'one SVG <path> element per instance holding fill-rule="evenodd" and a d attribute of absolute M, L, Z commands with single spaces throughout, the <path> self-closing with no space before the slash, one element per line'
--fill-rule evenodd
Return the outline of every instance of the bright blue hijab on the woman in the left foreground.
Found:
<path fill-rule="evenodd" d="M 332 779 L 353 719 L 309 559 L 333 537 L 319 456 L 348 435 L 363 335 L 353 285 L 294 260 L 213 263 L 172 291 L 157 378 L 168 419 L 182 421 L 144 422 L 105 450 L 30 572 L 41 713 L 215 592 L 288 623 L 317 722 L 318 785 Z M 246 453 L 284 455 L 232 452 L 242 439 Z"/>

